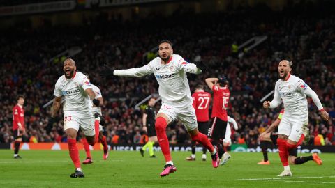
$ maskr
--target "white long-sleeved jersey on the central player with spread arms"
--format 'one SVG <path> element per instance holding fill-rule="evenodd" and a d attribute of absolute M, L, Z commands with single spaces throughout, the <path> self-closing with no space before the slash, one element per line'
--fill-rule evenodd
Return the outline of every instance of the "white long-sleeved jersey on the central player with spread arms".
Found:
<path fill-rule="evenodd" d="M 193 103 L 186 72 L 200 74 L 201 70 L 195 64 L 187 63 L 181 56 L 173 54 L 165 65 L 161 63 L 160 57 L 156 57 L 141 68 L 114 70 L 114 75 L 142 77 L 154 73 L 163 103 L 185 107 Z"/>

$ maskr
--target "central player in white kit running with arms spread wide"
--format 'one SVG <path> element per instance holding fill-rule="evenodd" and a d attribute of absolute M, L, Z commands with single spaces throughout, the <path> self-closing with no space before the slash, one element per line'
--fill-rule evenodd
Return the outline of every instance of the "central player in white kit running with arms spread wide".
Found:
<path fill-rule="evenodd" d="M 214 168 L 217 168 L 219 159 L 216 146 L 211 145 L 207 136 L 198 131 L 197 118 L 192 107 L 191 91 L 186 75 L 187 72 L 200 74 L 202 70 L 205 70 L 205 65 L 198 63 L 199 68 L 197 68 L 197 65 L 188 63 L 181 56 L 173 54 L 172 43 L 168 40 L 159 42 L 158 55 L 159 57 L 154 58 L 141 68 L 112 70 L 106 67 L 105 70 L 101 71 L 101 76 L 143 77 L 154 73 L 159 84 L 158 93 L 163 102 L 155 123 L 158 143 L 166 162 L 161 176 L 177 171 L 172 162 L 168 136 L 166 135 L 166 127 L 176 118 L 184 123 L 193 141 L 202 143 L 211 152 L 212 164 Z"/>

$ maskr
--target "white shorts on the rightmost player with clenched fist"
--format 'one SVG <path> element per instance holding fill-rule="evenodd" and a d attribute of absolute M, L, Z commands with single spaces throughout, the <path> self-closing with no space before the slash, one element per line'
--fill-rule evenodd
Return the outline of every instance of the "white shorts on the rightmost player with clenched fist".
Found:
<path fill-rule="evenodd" d="M 302 129 L 304 125 L 307 124 L 308 118 L 288 118 L 284 113 L 284 116 L 281 119 L 281 123 L 278 126 L 278 134 L 284 134 L 288 136 L 288 139 L 291 141 L 298 142 L 301 138 Z"/>

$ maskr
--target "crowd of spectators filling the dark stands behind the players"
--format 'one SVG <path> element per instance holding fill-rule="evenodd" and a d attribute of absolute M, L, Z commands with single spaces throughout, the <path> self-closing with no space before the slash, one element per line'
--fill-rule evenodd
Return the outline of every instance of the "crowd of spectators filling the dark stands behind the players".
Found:
<path fill-rule="evenodd" d="M 315 7 L 314 7 L 315 8 Z M 311 141 L 322 135 L 325 144 L 335 145 L 335 15 L 332 8 L 313 12 L 308 6 L 285 8 L 273 12 L 265 6 L 241 8 L 228 13 L 178 11 L 170 17 L 149 15 L 145 19 L 125 21 L 121 17 L 99 15 L 84 26 L 45 25 L 3 31 L 0 38 L 0 142 L 13 141 L 11 135 L 12 108 L 16 96 L 23 94 L 26 103 L 27 131 L 23 141 L 66 142 L 63 117 L 50 134 L 45 132 L 50 106 L 43 104 L 53 98 L 54 84 L 63 73 L 62 62 L 50 61 L 53 56 L 70 47 L 82 47 L 73 56 L 77 69 L 89 72 L 91 82 L 101 88 L 107 121 L 104 133 L 109 143 L 141 143 L 142 109 L 134 106 L 144 97 L 158 93 L 158 84 L 151 76 L 142 78 L 115 77 L 102 79 L 98 71 L 103 65 L 114 69 L 140 67 L 148 63 L 143 54 L 163 39 L 174 43 L 174 53 L 193 62 L 201 56 L 209 65 L 202 75 L 188 75 L 191 91 L 205 84 L 207 77 L 225 75 L 230 81 L 228 114 L 239 125 L 232 141 L 258 143 L 258 135 L 278 116 L 277 109 L 262 109 L 260 99 L 274 89 L 278 79 L 277 66 L 283 58 L 293 61 L 293 74 L 304 79 L 318 94 L 331 116 L 325 123 L 318 109 L 308 99 Z M 264 15 L 267 15 L 266 17 Z M 197 24 L 193 24 L 197 20 Z M 262 44 L 244 52 L 238 58 L 231 45 L 241 45 L 253 36 L 267 36 Z M 144 59 L 144 61 L 143 61 Z M 207 88 L 207 91 L 209 89 Z M 271 100 L 269 97 L 268 100 Z M 160 103 L 156 104 L 158 110 Z M 171 143 L 190 141 L 179 121 L 168 127 Z M 239 139 L 244 138 L 244 139 Z"/>

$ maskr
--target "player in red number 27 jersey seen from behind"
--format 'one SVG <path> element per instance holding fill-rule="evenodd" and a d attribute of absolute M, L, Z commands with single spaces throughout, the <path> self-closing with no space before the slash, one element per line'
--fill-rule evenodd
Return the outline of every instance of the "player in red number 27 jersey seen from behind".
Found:
<path fill-rule="evenodd" d="M 197 116 L 198 130 L 202 134 L 208 133 L 209 121 L 209 101 L 211 100 L 211 93 L 204 91 L 204 86 L 198 85 L 195 87 L 195 92 L 192 95 L 193 108 L 195 109 L 195 116 Z M 192 141 L 191 156 L 186 157 L 188 161 L 195 161 L 195 147 L 196 142 Z M 202 161 L 206 161 L 207 148 L 202 147 Z"/>

